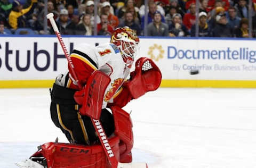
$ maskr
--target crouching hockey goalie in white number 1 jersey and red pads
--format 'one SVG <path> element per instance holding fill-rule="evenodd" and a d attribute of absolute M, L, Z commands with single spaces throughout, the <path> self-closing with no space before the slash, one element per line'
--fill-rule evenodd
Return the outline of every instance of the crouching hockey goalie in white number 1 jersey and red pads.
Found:
<path fill-rule="evenodd" d="M 75 46 L 70 58 L 83 89 L 77 86 L 69 66 L 69 72 L 58 75 L 53 84 L 50 107 L 53 123 L 70 143 L 43 144 L 29 159 L 17 163 L 19 167 L 148 167 L 132 162 L 132 121 L 122 107 L 156 90 L 162 74 L 147 57 L 139 58 L 130 72 L 138 45 L 136 33 L 124 27 L 115 30 L 110 43 Z M 102 137 L 103 130 L 106 136 Z M 118 164 L 111 165 L 109 157 L 115 157 Z"/>

